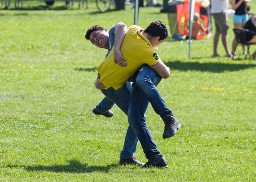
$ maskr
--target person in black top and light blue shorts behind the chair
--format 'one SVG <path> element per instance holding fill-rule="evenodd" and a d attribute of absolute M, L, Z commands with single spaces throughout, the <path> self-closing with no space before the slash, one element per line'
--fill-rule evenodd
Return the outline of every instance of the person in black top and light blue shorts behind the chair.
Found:
<path fill-rule="evenodd" d="M 248 14 L 247 14 L 247 0 L 230 0 L 230 4 L 232 8 L 235 10 L 235 14 L 233 16 L 233 23 L 235 29 L 242 28 L 248 21 Z M 232 55 L 234 56 L 235 45 L 237 44 L 237 40 L 233 39 L 232 44 Z M 242 45 L 243 54 L 247 54 Z"/>

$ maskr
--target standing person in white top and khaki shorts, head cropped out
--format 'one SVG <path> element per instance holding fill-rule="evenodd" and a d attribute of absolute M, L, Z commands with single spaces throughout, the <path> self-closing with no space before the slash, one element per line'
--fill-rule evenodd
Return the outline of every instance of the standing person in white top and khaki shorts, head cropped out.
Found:
<path fill-rule="evenodd" d="M 220 56 L 217 52 L 217 46 L 219 42 L 219 37 L 221 35 L 221 41 L 226 51 L 227 57 L 232 57 L 228 49 L 228 40 L 227 40 L 227 33 L 228 33 L 228 16 L 227 16 L 227 7 L 228 7 L 228 0 L 210 0 L 211 1 L 211 14 L 214 18 L 215 29 L 216 32 L 213 37 L 213 57 Z"/>

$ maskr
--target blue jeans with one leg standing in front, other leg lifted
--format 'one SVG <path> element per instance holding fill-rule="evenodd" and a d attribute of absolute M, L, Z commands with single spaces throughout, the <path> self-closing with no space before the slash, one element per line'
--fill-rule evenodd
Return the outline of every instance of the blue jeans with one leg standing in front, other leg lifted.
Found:
<path fill-rule="evenodd" d="M 140 84 L 140 87 L 137 84 L 137 81 Z M 159 77 L 156 71 L 152 70 L 148 65 L 143 65 L 142 68 L 140 68 L 136 81 L 132 84 L 130 93 L 128 122 L 134 133 L 137 135 L 147 159 L 149 159 L 151 155 L 160 154 L 146 124 L 145 112 L 149 105 L 149 99 L 152 101 L 153 104 L 151 103 L 151 105 L 154 105 L 155 111 L 158 112 L 157 114 L 160 114 L 161 116 L 168 113 L 172 114 L 156 88 L 160 81 L 161 77 Z M 157 107 L 167 109 L 161 111 L 161 109 L 158 109 Z"/>

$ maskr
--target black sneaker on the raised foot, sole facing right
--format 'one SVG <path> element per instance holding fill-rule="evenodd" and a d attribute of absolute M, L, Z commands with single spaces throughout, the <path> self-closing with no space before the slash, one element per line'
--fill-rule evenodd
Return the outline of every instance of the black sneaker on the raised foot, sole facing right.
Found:
<path fill-rule="evenodd" d="M 180 122 L 171 115 L 162 117 L 164 120 L 164 134 L 163 138 L 170 138 L 174 136 L 178 129 L 180 129 Z"/>

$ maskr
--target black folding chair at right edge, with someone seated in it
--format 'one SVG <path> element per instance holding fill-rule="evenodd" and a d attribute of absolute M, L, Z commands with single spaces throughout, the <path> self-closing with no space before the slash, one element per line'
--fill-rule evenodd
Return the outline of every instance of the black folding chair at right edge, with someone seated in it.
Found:
<path fill-rule="evenodd" d="M 237 44 L 235 45 L 235 49 L 237 48 L 238 44 L 244 44 L 247 46 L 247 53 L 245 56 L 245 59 L 247 57 L 247 54 L 249 54 L 249 58 L 251 59 L 251 55 L 249 52 L 249 48 L 251 44 L 256 44 L 256 43 L 247 43 L 246 40 L 246 34 L 253 34 L 256 35 L 256 32 L 250 31 L 248 29 L 233 29 L 234 33 L 235 33 L 235 39 L 237 40 Z M 235 50 L 234 50 L 234 54 L 235 54 Z M 234 60 L 234 55 L 233 55 L 233 60 Z"/>

